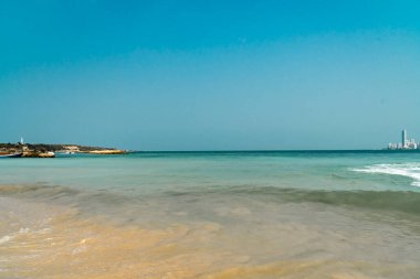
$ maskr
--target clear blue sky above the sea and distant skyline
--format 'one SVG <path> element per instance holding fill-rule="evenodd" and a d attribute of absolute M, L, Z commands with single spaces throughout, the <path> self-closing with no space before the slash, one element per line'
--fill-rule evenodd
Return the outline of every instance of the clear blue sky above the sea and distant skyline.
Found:
<path fill-rule="evenodd" d="M 0 142 L 420 140 L 419 1 L 0 1 Z"/>

